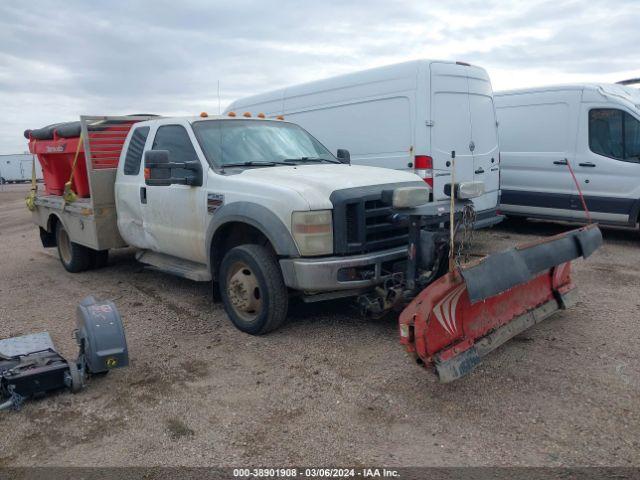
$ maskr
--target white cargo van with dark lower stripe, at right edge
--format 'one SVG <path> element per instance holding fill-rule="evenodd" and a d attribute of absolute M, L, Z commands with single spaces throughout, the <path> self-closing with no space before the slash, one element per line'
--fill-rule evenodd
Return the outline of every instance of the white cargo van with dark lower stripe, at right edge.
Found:
<path fill-rule="evenodd" d="M 640 212 L 640 92 L 611 84 L 499 92 L 508 215 L 635 226 Z M 569 165 L 567 165 L 569 164 Z"/>

